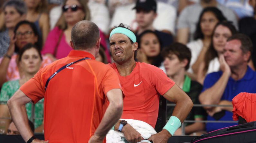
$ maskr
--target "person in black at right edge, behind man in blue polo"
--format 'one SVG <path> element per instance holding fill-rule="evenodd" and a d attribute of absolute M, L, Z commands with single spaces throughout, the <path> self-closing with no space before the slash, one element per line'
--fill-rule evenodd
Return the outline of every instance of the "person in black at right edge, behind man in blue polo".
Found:
<path fill-rule="evenodd" d="M 255 1 L 256 4 L 256 1 Z M 250 68 L 256 68 L 256 19 L 253 17 L 245 17 L 239 20 L 239 32 L 251 38 L 253 51 L 251 54 L 252 60 L 249 61 Z"/>

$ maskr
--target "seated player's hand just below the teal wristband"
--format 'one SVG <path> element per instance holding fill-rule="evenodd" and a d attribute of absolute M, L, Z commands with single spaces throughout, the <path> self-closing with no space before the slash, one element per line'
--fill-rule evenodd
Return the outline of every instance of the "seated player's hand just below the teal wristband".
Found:
<path fill-rule="evenodd" d="M 149 139 L 149 141 L 153 141 L 153 143 L 167 143 L 168 139 L 171 137 L 172 135 L 166 130 L 163 129 L 162 131 L 160 131 L 157 134 L 152 135 Z"/>

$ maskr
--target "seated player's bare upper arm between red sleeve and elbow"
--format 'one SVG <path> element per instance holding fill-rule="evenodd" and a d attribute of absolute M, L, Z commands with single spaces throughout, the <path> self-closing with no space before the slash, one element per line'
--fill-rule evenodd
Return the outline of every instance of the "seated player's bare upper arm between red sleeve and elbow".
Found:
<path fill-rule="evenodd" d="M 186 99 L 188 95 L 177 85 L 174 84 L 163 97 L 170 102 L 177 103 L 178 100 Z"/>

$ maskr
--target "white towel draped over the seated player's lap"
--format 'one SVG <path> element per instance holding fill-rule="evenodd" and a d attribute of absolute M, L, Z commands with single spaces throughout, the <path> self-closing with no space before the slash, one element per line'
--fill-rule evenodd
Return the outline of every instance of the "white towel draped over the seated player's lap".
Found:
<path fill-rule="evenodd" d="M 141 137 L 143 139 L 148 139 L 149 137 L 151 137 L 151 135 L 156 134 L 155 129 L 146 122 L 133 119 L 120 120 L 127 121 L 128 124 L 130 124 L 136 131 L 141 134 Z M 110 130 L 107 134 L 106 139 L 107 143 L 124 143 L 123 141 L 121 141 L 121 138 L 124 138 L 124 134 L 122 132 Z"/>

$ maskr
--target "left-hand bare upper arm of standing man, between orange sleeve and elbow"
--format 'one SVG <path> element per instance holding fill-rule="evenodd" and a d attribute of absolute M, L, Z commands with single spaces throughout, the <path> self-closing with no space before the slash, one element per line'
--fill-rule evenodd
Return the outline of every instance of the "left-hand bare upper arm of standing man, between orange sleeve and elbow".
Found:
<path fill-rule="evenodd" d="M 32 101 L 32 99 L 27 97 L 20 89 L 18 89 L 9 99 L 9 101 L 13 101 L 19 105 L 25 105 L 26 103 Z"/>

